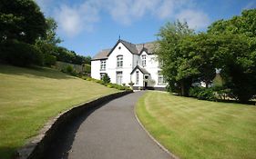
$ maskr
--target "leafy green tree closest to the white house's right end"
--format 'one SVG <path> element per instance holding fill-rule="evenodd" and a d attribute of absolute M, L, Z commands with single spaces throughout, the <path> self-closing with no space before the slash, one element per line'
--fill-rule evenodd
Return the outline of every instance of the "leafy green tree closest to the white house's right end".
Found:
<path fill-rule="evenodd" d="M 199 74 L 197 69 L 190 66 L 192 61 L 189 55 L 180 51 L 180 42 L 189 35 L 194 35 L 193 30 L 189 29 L 187 23 L 179 21 L 164 25 L 158 34 L 156 54 L 162 62 L 162 74 L 169 83 L 170 91 L 181 95 L 189 94 L 192 77 Z"/>

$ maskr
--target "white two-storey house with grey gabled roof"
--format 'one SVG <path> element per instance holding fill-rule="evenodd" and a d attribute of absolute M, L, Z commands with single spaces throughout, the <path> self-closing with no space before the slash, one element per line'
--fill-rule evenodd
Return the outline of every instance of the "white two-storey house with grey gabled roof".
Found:
<path fill-rule="evenodd" d="M 154 55 L 155 44 L 134 45 L 118 40 L 112 49 L 102 50 L 92 58 L 92 78 L 101 79 L 108 74 L 114 84 L 134 83 L 134 89 L 164 90 L 166 84 Z"/>

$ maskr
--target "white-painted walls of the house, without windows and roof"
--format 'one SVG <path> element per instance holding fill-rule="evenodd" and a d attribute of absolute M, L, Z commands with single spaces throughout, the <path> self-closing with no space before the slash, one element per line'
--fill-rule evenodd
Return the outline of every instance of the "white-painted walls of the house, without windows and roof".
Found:
<path fill-rule="evenodd" d="M 119 46 L 121 49 L 118 49 Z M 117 67 L 117 56 L 123 55 L 123 67 Z M 107 73 L 110 77 L 111 83 L 117 83 L 117 71 L 122 71 L 123 81 L 122 84 L 130 83 L 131 81 L 134 83 L 134 86 L 143 86 L 143 74 L 139 72 L 139 83 L 136 82 L 136 71 L 133 75 L 130 75 L 133 68 L 136 67 L 137 61 L 138 65 L 142 66 L 142 55 L 146 55 L 146 66 L 144 67 L 148 73 L 150 74 L 148 77 L 148 86 L 155 87 L 165 87 L 166 84 L 158 84 L 159 80 L 159 62 L 157 60 L 157 55 L 148 55 L 145 51 L 141 55 L 132 55 L 125 45 L 119 43 L 112 53 L 108 56 L 108 60 L 106 61 L 106 71 L 100 71 L 100 60 L 91 62 L 91 76 L 96 79 L 100 79 L 100 73 Z"/>

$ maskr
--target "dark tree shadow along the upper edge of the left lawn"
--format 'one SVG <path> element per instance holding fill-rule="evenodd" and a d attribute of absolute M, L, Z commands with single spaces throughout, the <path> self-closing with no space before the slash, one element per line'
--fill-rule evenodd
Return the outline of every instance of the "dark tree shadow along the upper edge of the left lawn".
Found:
<path fill-rule="evenodd" d="M 47 67 L 17 67 L 11 65 L 0 65 L 0 74 L 5 75 L 24 75 L 32 78 L 53 78 L 53 79 L 72 79 L 74 76 L 61 73 L 55 69 Z M 1 158 L 0 158 L 1 159 Z"/>

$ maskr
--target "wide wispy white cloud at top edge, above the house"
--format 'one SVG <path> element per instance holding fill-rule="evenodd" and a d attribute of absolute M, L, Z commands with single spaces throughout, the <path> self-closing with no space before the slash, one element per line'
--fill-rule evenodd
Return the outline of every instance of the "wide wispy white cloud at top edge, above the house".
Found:
<path fill-rule="evenodd" d="M 106 1 L 106 0 L 105 0 Z M 108 13 L 118 23 L 129 25 L 144 15 L 154 15 L 159 19 L 174 17 L 175 11 L 183 5 L 190 5 L 188 0 L 107 0 Z"/>

